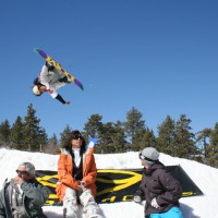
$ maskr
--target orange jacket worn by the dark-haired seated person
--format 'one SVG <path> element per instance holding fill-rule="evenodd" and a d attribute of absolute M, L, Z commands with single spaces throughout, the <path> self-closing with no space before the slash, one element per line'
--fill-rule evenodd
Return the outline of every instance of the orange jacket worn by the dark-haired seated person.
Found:
<path fill-rule="evenodd" d="M 88 150 L 83 156 L 83 181 L 85 181 L 86 186 L 90 189 L 94 197 L 96 196 L 96 177 L 97 169 L 95 157 L 93 155 L 94 148 L 88 148 Z M 61 150 L 58 160 L 58 178 L 56 192 L 60 201 L 63 201 L 65 189 L 71 187 L 77 190 L 78 181 L 72 177 L 73 164 L 70 153 L 65 149 Z"/>

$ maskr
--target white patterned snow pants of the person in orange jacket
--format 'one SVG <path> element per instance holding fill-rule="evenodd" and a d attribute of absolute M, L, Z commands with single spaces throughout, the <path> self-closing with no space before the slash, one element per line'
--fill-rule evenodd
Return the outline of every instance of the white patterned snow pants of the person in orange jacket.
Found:
<path fill-rule="evenodd" d="M 68 187 L 63 197 L 63 217 L 64 218 L 77 218 L 77 195 L 80 195 L 81 204 L 83 205 L 83 211 L 85 218 L 104 218 L 102 213 L 98 204 L 95 202 L 90 190 L 85 190 L 83 193 Z"/>

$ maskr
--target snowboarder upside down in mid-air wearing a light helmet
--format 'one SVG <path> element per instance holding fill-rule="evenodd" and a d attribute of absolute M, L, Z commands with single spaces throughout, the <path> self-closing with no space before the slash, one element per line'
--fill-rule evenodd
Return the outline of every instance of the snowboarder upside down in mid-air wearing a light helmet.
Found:
<path fill-rule="evenodd" d="M 52 98 L 56 98 L 63 105 L 70 105 L 70 101 L 65 101 L 56 92 L 68 83 L 71 83 L 71 81 L 68 80 L 63 73 L 58 71 L 53 65 L 50 65 L 48 62 L 46 62 L 39 76 L 34 80 L 33 93 L 35 96 L 40 96 L 43 93 L 48 92 Z"/>

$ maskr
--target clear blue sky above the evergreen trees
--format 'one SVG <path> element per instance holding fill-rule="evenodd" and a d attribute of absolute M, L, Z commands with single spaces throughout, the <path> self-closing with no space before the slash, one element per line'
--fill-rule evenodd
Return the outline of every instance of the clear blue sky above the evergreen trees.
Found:
<path fill-rule="evenodd" d="M 218 122 L 218 1 L 65 0 L 1 1 L 0 122 L 13 124 L 32 102 L 48 135 L 69 124 L 82 130 L 98 113 L 102 122 L 125 121 L 135 107 L 145 124 L 186 114 L 196 133 Z M 35 97 L 40 48 L 78 78 Z"/>

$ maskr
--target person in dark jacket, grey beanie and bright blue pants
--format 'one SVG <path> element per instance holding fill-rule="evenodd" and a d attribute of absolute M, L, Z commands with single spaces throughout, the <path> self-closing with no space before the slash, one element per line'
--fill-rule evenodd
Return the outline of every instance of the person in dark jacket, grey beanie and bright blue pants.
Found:
<path fill-rule="evenodd" d="M 144 171 L 133 199 L 135 203 L 146 201 L 146 218 L 183 218 L 179 204 L 182 187 L 179 181 L 166 171 L 158 158 L 159 153 L 154 147 L 146 147 L 140 152 Z"/>

